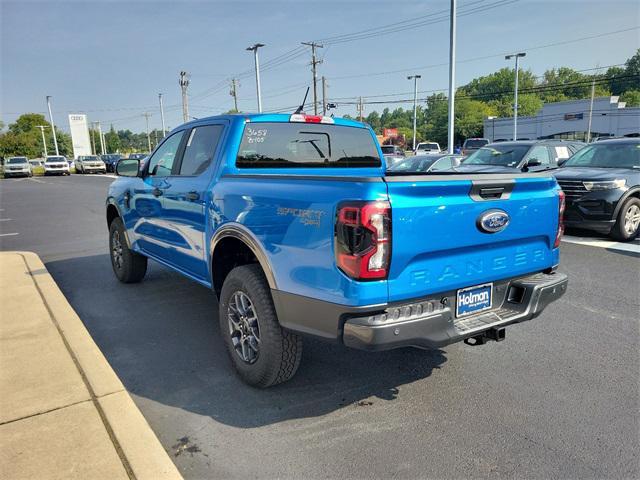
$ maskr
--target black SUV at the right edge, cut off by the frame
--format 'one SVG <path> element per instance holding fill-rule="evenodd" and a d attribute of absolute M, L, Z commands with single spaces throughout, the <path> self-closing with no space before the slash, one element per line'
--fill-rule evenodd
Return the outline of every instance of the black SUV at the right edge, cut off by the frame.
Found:
<path fill-rule="evenodd" d="M 566 196 L 564 223 L 633 240 L 640 226 L 640 139 L 602 140 L 554 172 Z"/>

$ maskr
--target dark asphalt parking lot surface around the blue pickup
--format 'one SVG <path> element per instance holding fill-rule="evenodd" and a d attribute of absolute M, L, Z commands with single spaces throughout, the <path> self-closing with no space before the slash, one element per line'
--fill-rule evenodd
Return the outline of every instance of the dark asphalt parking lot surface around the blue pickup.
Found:
<path fill-rule="evenodd" d="M 259 391 L 231 370 L 211 292 L 155 264 L 117 282 L 110 181 L 0 181 L 0 248 L 42 257 L 185 478 L 640 476 L 640 242 L 568 239 L 569 292 L 505 342 L 306 340 L 296 377 Z"/>

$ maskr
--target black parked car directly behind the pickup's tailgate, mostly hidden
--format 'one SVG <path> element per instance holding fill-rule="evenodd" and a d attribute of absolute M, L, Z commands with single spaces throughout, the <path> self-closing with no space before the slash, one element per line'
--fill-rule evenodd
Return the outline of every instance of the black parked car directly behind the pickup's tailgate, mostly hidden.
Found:
<path fill-rule="evenodd" d="M 523 172 L 539 172 L 556 168 L 585 146 L 582 142 L 563 140 L 519 140 L 490 143 L 469 155 L 462 165 L 516 168 Z M 465 169 L 470 171 L 471 169 Z"/>

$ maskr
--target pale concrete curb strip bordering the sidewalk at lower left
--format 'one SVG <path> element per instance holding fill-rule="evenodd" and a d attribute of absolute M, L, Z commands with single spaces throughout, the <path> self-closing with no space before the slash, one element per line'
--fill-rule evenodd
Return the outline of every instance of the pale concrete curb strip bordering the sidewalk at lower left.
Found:
<path fill-rule="evenodd" d="M 178 469 L 38 255 L 33 252 L 10 253 L 20 255 L 26 263 L 42 301 L 85 381 L 129 477 L 138 480 L 182 479 Z"/>

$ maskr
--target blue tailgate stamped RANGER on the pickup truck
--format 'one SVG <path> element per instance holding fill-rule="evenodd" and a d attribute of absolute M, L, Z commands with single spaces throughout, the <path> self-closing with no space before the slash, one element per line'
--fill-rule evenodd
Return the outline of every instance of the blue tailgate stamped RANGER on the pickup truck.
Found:
<path fill-rule="evenodd" d="M 558 263 L 558 191 L 550 174 L 388 176 L 389 301 L 538 272 Z M 489 233 L 479 218 L 509 216 Z"/>

